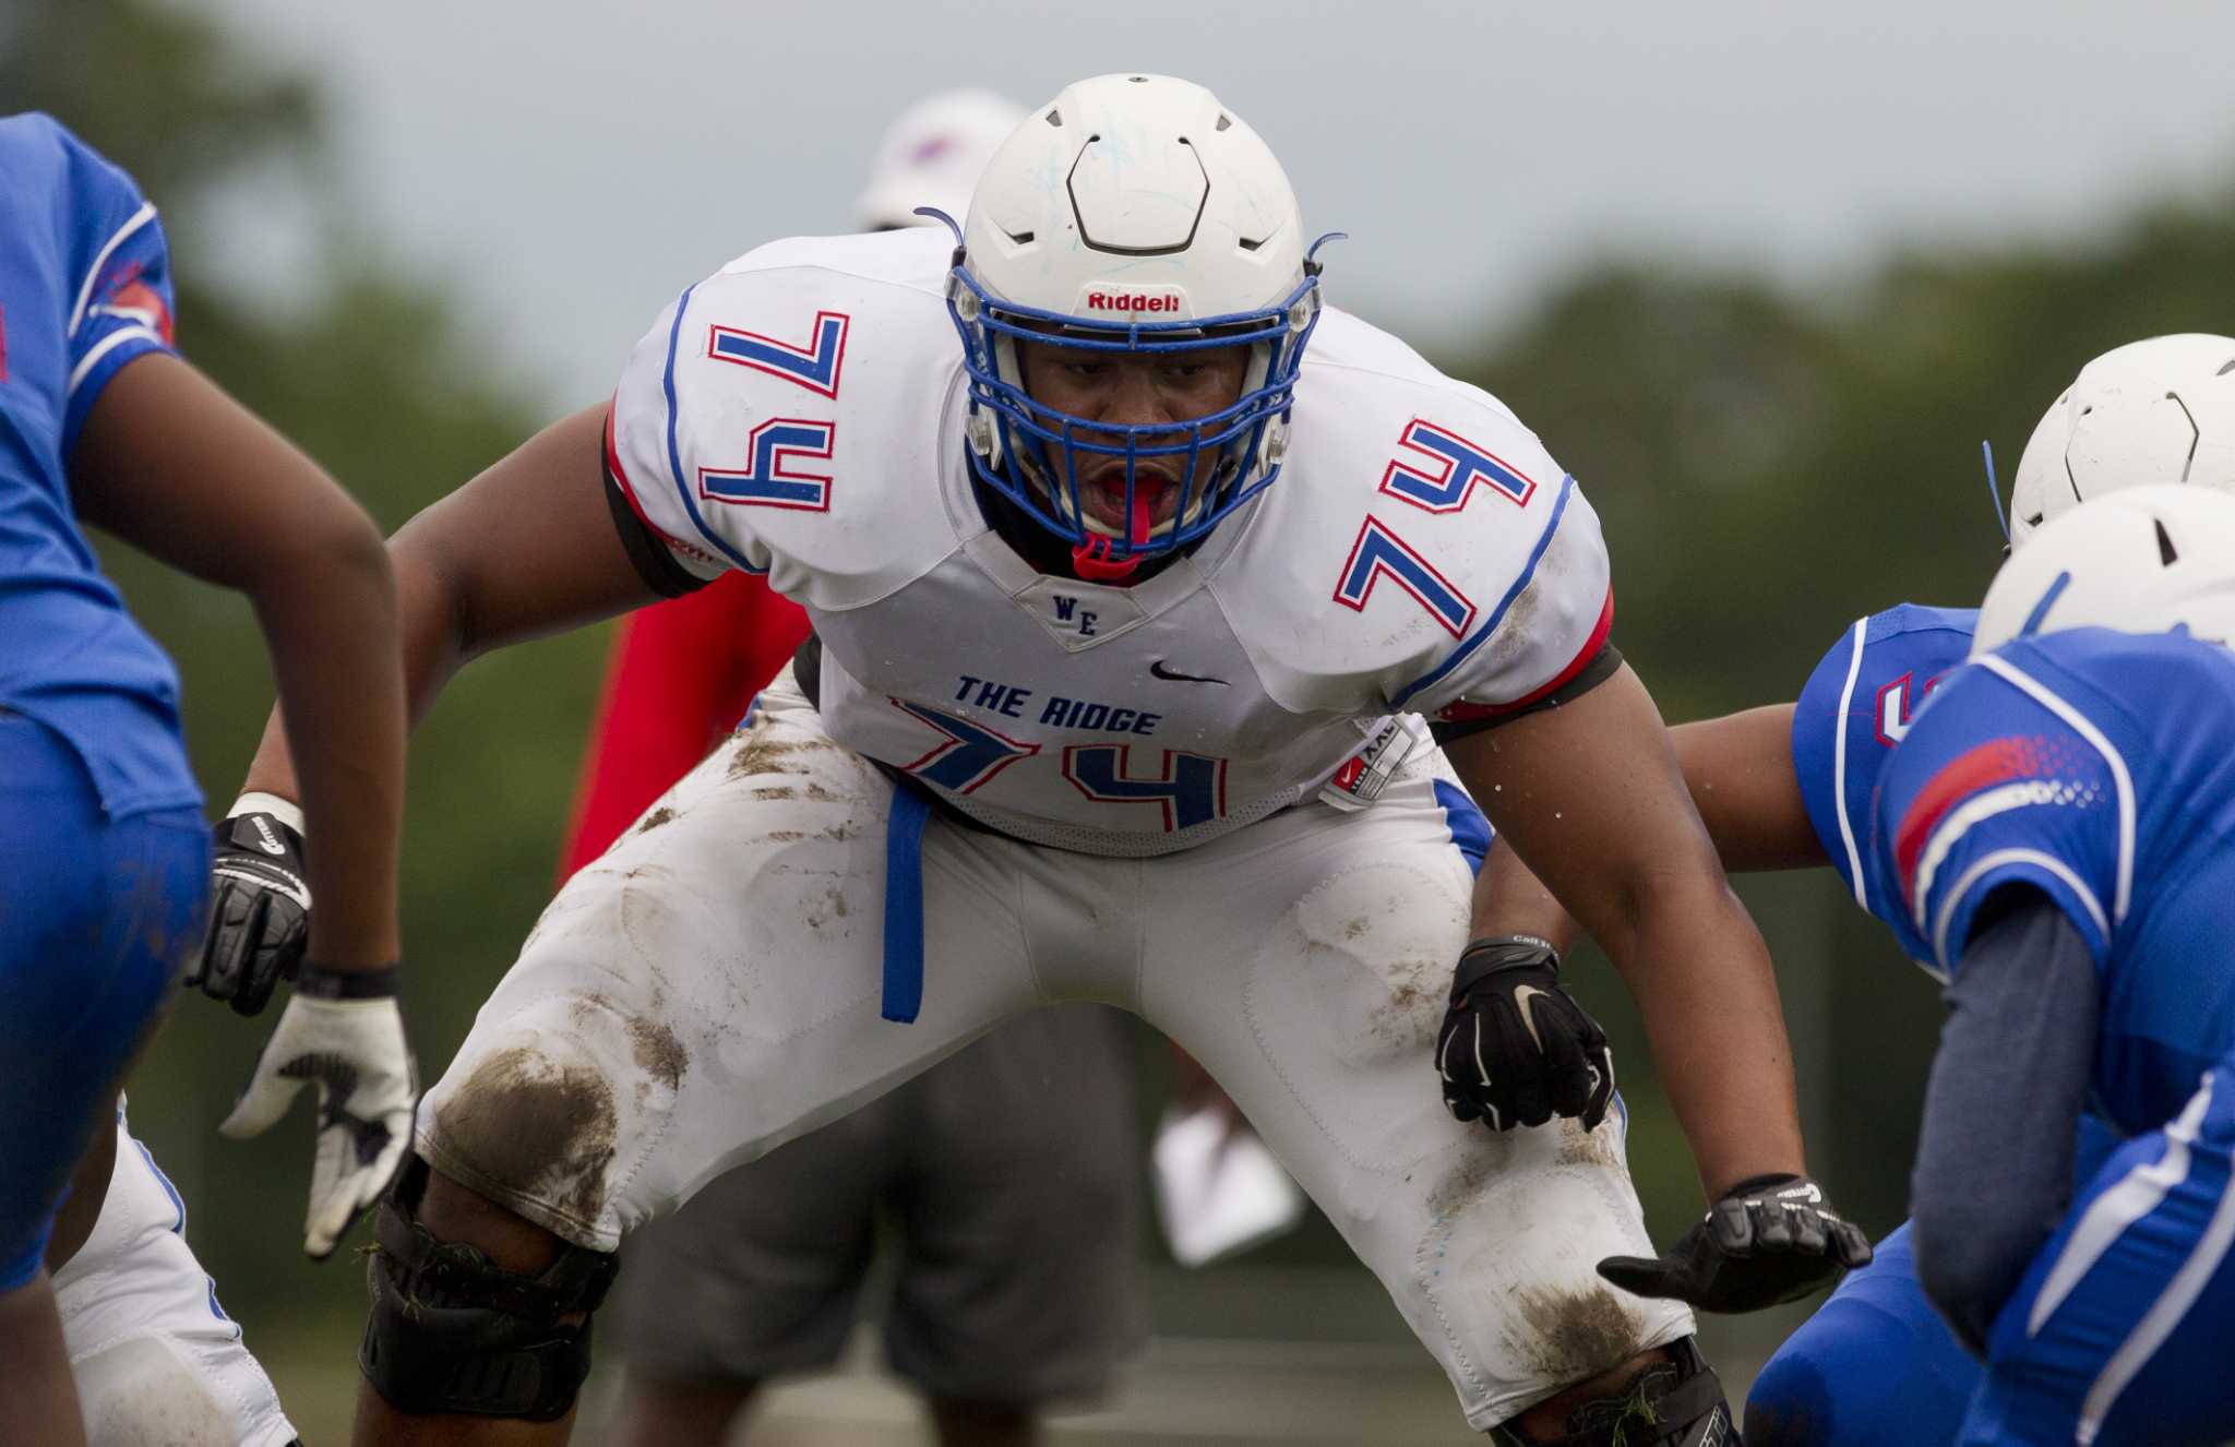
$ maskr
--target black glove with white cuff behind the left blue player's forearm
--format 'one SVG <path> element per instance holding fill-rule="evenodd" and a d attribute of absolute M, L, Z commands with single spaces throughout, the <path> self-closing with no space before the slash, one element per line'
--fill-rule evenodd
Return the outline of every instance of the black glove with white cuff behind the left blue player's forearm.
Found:
<path fill-rule="evenodd" d="M 232 805 L 210 861 L 210 933 L 188 984 L 255 1015 L 282 980 L 293 980 L 311 942 L 311 881 L 302 868 L 302 834 L 279 814 Z M 286 807 L 279 801 L 273 805 Z"/>

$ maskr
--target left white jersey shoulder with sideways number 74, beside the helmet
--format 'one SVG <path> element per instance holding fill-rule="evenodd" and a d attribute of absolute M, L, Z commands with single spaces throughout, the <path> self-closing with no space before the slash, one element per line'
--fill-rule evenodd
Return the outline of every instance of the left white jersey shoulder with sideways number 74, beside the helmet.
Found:
<path fill-rule="evenodd" d="M 662 313 L 615 391 L 610 461 L 677 561 L 849 608 L 959 546 L 945 259 L 928 228 L 776 242 Z"/>

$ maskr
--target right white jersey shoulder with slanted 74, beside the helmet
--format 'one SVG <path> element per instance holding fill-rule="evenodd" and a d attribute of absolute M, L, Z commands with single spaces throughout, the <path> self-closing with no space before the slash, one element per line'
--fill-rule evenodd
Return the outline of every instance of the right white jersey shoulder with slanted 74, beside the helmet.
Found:
<path fill-rule="evenodd" d="M 1214 586 L 1290 707 L 1477 718 L 1607 642 L 1607 550 L 1573 479 L 1504 403 L 1357 318 L 1321 322 L 1265 499 Z"/>

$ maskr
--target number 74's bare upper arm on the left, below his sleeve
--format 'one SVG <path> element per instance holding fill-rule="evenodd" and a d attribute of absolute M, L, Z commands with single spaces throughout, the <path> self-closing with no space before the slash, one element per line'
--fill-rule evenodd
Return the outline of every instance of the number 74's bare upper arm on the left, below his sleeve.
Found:
<path fill-rule="evenodd" d="M 389 543 L 407 626 L 436 613 L 469 658 L 659 597 L 606 503 L 603 429 L 603 405 L 561 418 L 413 517 Z"/>

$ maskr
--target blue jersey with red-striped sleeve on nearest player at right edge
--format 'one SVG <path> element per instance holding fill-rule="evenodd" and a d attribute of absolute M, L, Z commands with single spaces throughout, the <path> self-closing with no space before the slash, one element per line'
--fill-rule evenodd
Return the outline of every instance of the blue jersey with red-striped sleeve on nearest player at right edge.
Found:
<path fill-rule="evenodd" d="M 2103 989 L 2094 1100 L 2128 1132 L 2235 1053 L 2235 653 L 2072 628 L 1951 673 L 1886 760 L 1875 852 L 1953 968 L 2000 886 L 2047 895 Z"/>

